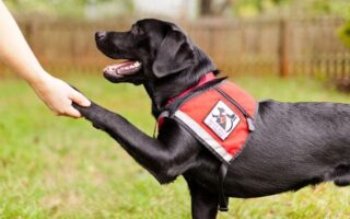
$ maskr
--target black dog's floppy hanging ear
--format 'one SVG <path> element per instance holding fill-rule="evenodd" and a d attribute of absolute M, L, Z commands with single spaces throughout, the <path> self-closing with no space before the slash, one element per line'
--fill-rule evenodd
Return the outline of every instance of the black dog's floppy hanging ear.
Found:
<path fill-rule="evenodd" d="M 162 78 L 190 67 L 195 60 L 189 38 L 177 26 L 172 26 L 156 51 L 152 70 L 156 78 Z"/>

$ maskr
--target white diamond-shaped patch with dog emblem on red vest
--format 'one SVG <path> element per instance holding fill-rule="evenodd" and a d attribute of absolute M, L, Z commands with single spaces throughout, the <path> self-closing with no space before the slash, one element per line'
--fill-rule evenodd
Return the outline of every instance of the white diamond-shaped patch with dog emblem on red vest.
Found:
<path fill-rule="evenodd" d="M 205 124 L 221 138 L 225 140 L 240 123 L 240 116 L 235 114 L 225 103 L 219 101 L 205 119 Z"/>

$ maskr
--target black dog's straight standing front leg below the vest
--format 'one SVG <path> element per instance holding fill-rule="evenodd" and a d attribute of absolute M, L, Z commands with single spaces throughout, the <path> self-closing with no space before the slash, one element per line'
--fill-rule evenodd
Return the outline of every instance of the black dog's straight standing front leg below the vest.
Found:
<path fill-rule="evenodd" d="M 214 219 L 218 214 L 218 194 L 211 194 L 196 183 L 188 182 L 194 219 Z"/>

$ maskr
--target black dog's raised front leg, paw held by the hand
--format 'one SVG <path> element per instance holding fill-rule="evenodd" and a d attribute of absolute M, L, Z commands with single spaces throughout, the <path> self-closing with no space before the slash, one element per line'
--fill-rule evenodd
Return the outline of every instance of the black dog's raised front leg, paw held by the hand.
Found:
<path fill-rule="evenodd" d="M 137 162 L 162 184 L 174 181 L 190 168 L 190 163 L 195 163 L 196 150 L 190 148 L 196 143 L 184 141 L 183 138 L 186 134 L 179 132 L 182 130 L 173 130 L 172 135 L 162 141 L 147 136 L 120 115 L 95 103 L 92 103 L 90 107 L 74 104 L 74 107 L 91 120 L 94 127 L 108 132 L 116 139 Z M 182 143 L 189 146 L 182 146 Z"/>

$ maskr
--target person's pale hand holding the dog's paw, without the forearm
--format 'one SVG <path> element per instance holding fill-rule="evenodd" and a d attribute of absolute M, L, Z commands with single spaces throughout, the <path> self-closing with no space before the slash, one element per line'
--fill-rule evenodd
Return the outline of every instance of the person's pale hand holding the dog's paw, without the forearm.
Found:
<path fill-rule="evenodd" d="M 74 102 L 85 107 L 91 104 L 83 94 L 75 91 L 65 81 L 48 74 L 36 81 L 32 87 L 44 103 L 58 116 L 79 118 L 81 114 L 72 106 L 72 103 Z"/>

